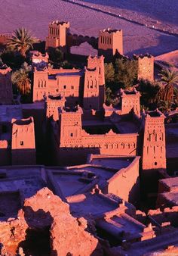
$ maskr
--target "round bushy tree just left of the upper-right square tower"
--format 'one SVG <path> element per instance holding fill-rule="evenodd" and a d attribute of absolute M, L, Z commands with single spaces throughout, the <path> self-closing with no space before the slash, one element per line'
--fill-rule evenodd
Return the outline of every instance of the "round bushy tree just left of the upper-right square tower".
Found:
<path fill-rule="evenodd" d="M 128 89 L 137 82 L 138 65 L 137 61 L 118 58 L 115 60 L 115 82 L 121 88 Z"/>

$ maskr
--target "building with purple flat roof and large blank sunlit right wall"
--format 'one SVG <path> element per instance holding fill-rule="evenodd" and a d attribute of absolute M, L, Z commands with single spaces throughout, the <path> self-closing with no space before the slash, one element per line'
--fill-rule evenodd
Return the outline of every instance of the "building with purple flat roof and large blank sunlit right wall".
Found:
<path fill-rule="evenodd" d="M 114 194 L 136 205 L 140 201 L 140 157 L 89 155 L 87 164 L 48 168 L 48 182 L 56 195 L 91 192 L 98 185 L 104 194 Z"/>

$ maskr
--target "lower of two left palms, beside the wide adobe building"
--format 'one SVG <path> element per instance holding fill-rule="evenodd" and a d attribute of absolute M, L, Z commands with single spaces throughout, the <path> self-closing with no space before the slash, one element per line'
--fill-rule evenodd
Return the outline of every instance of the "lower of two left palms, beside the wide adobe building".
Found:
<path fill-rule="evenodd" d="M 17 85 L 17 88 L 22 95 L 28 95 L 31 91 L 31 80 L 29 78 L 30 71 L 31 66 L 28 66 L 25 62 L 20 70 L 17 70 L 12 74 L 12 83 Z"/>

